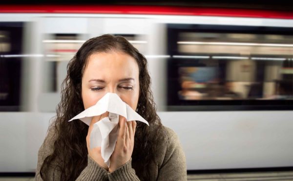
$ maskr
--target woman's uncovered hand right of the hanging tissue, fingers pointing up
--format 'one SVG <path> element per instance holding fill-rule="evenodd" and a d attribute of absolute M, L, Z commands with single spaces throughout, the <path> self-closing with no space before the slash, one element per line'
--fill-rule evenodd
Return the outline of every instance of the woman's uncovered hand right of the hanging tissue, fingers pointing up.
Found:
<path fill-rule="evenodd" d="M 109 172 L 115 171 L 129 161 L 133 151 L 136 121 L 126 121 L 126 118 L 119 116 L 119 125 L 117 142 L 110 158 Z"/>

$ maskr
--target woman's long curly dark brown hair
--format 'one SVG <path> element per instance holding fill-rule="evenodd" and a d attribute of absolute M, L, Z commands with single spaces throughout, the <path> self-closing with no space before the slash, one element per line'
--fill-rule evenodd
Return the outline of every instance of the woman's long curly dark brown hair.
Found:
<path fill-rule="evenodd" d="M 146 58 L 121 36 L 103 35 L 84 42 L 67 65 L 67 76 L 62 83 L 61 102 L 57 106 L 57 116 L 51 126 L 56 131 L 53 153 L 47 156 L 41 167 L 41 177 L 49 180 L 46 171 L 53 167 L 61 173 L 58 180 L 73 181 L 87 165 L 86 135 L 88 126 L 82 121 L 71 121 L 71 118 L 84 111 L 82 101 L 82 77 L 87 58 L 93 53 L 120 51 L 133 57 L 139 67 L 140 96 L 137 113 L 148 121 L 149 126 L 137 122 L 132 166 L 141 180 L 148 180 L 152 175 L 148 167 L 154 161 L 156 142 L 160 139 L 163 126 L 156 114 L 156 104 L 150 90 L 151 80 L 147 71 Z M 154 129 L 154 137 L 150 137 Z M 54 170 L 54 171 L 55 171 Z M 57 179 L 57 178 L 55 178 Z M 53 176 L 53 180 L 54 176 Z"/>

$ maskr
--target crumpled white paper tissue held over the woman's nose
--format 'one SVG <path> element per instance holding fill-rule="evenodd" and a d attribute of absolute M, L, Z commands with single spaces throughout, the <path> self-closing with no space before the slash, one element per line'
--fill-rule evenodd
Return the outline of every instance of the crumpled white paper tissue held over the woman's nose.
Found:
<path fill-rule="evenodd" d="M 127 121 L 142 121 L 147 125 L 148 122 L 115 93 L 107 93 L 95 105 L 85 109 L 69 121 L 80 119 L 89 125 L 94 116 L 102 115 L 105 112 L 109 112 L 108 117 L 93 125 L 90 134 L 90 148 L 101 147 L 102 158 L 109 167 L 119 132 L 119 115 L 125 117 Z"/>

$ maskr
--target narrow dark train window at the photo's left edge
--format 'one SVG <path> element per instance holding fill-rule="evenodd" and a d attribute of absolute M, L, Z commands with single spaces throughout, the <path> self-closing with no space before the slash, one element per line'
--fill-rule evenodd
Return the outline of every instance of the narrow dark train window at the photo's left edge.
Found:
<path fill-rule="evenodd" d="M 0 111 L 20 111 L 21 22 L 0 22 Z"/>

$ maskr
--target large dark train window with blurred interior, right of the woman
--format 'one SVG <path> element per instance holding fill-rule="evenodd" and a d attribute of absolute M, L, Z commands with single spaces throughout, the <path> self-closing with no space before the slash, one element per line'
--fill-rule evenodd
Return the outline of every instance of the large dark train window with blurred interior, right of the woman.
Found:
<path fill-rule="evenodd" d="M 168 110 L 292 110 L 292 32 L 168 24 Z"/>

